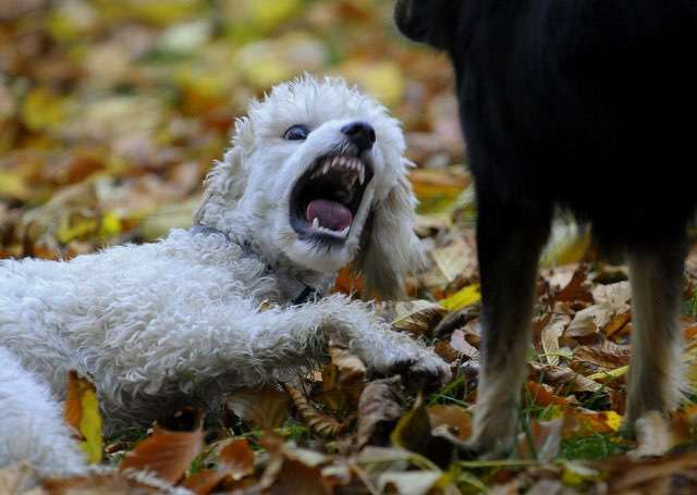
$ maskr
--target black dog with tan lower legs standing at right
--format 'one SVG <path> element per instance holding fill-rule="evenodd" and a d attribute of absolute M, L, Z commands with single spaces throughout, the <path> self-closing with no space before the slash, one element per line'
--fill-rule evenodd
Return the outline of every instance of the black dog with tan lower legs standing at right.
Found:
<path fill-rule="evenodd" d="M 484 352 L 472 446 L 511 445 L 552 210 L 626 248 L 627 424 L 680 398 L 686 227 L 697 206 L 697 1 L 398 0 L 454 64 L 476 181 Z"/>

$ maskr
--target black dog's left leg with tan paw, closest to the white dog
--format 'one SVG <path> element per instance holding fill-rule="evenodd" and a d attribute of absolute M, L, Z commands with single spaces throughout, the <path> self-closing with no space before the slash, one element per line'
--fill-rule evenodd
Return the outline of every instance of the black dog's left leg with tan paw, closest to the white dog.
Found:
<path fill-rule="evenodd" d="M 479 198 L 482 355 L 469 447 L 494 457 L 509 450 L 515 438 L 537 264 L 549 234 L 550 209 L 501 207 L 487 202 L 486 194 Z"/>

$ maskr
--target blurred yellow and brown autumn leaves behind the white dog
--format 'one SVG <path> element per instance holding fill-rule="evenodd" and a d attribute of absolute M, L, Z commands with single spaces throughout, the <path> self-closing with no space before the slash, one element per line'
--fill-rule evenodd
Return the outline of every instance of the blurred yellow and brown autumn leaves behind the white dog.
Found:
<path fill-rule="evenodd" d="M 387 0 L 0 0 L 0 258 L 70 258 L 191 225 L 253 97 L 341 75 L 404 122 L 425 236 L 468 177 L 444 55 Z M 460 199 L 458 199 L 460 198 Z"/>

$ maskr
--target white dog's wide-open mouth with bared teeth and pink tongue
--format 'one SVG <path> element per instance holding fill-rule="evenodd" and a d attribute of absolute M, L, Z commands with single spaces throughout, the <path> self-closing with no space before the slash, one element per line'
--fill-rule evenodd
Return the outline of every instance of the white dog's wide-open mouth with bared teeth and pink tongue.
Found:
<path fill-rule="evenodd" d="M 319 158 L 295 184 L 291 225 L 303 239 L 345 240 L 371 178 L 369 164 L 355 156 Z"/>

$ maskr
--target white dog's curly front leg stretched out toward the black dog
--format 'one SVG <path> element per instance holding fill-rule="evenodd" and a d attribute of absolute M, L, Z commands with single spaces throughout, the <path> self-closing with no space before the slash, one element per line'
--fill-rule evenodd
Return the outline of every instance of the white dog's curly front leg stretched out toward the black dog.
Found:
<path fill-rule="evenodd" d="M 249 305 L 241 299 L 239 305 L 205 308 L 195 323 L 180 311 L 182 321 L 168 320 L 143 332 L 137 349 L 110 346 L 119 354 L 105 361 L 121 364 L 110 372 L 121 375 L 112 383 L 157 393 L 158 384 L 172 379 L 186 389 L 199 380 L 233 373 L 241 385 L 253 385 L 273 380 L 273 370 L 307 364 L 330 338 L 345 342 L 377 372 L 405 371 L 441 382 L 450 376 L 435 352 L 390 331 L 364 304 L 343 296 L 266 311 Z"/>

